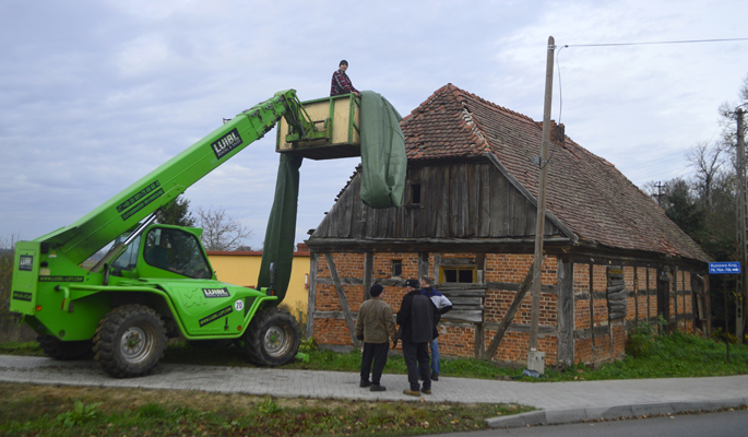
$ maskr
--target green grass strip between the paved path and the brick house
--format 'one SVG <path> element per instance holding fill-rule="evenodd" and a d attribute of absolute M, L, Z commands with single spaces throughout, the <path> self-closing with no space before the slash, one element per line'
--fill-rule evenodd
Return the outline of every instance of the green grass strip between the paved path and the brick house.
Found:
<path fill-rule="evenodd" d="M 724 343 L 676 332 L 653 335 L 646 330 L 637 331 L 629 343 L 630 354 L 613 363 L 598 366 L 575 364 L 563 369 L 546 366 L 541 378 L 522 376 L 521 368 L 499 367 L 494 363 L 471 358 L 441 359 L 441 374 L 447 377 L 498 379 L 521 381 L 573 381 L 636 378 L 690 378 L 748 374 L 748 345 L 731 344 L 731 363 L 727 363 Z M 634 352 L 636 351 L 636 352 Z M 285 369 L 354 371 L 360 370 L 361 355 L 358 350 L 337 353 L 307 345 L 305 353 L 309 363 L 294 362 Z M 0 344 L 0 354 L 43 356 L 36 342 Z M 215 350 L 195 350 L 187 342 L 169 342 L 164 363 L 197 364 L 211 366 L 253 367 L 244 353 L 231 346 Z M 392 355 L 387 362 L 385 374 L 405 375 L 402 355 Z"/>

